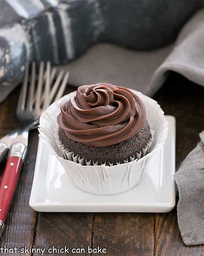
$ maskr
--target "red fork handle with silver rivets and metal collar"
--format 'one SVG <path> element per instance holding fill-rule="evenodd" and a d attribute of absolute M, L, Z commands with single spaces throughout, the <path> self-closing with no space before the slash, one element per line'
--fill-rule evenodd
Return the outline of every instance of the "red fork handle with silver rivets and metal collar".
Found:
<path fill-rule="evenodd" d="M 6 167 L 0 182 L 0 236 L 2 234 L 6 216 L 15 194 L 25 152 L 27 151 L 23 143 L 17 143 L 14 143 L 11 146 Z M 16 150 L 17 148 L 18 150 Z"/>

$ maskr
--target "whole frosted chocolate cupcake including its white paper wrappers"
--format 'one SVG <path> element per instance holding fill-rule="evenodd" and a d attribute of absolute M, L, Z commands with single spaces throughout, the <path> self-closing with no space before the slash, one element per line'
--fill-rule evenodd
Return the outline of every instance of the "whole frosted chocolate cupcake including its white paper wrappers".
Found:
<path fill-rule="evenodd" d="M 100 83 L 79 87 L 51 104 L 40 116 L 39 133 L 45 150 L 75 186 L 113 195 L 138 184 L 151 158 L 161 165 L 158 151 L 165 144 L 168 122 L 153 99 Z"/>

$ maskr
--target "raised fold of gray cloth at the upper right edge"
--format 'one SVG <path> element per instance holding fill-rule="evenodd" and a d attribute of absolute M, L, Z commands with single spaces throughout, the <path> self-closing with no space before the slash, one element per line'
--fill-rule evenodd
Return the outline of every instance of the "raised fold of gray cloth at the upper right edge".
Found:
<path fill-rule="evenodd" d="M 204 86 L 204 9 L 197 12 L 181 29 L 172 52 L 154 72 L 146 89 L 153 95 L 164 82 L 169 70 Z"/>

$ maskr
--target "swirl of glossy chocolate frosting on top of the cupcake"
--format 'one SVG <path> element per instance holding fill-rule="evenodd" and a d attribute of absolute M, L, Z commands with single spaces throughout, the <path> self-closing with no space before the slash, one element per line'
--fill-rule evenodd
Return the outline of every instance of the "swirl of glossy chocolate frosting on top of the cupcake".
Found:
<path fill-rule="evenodd" d="M 80 86 L 60 108 L 57 123 L 66 136 L 96 147 L 134 137 L 146 119 L 145 106 L 136 94 L 108 83 Z"/>

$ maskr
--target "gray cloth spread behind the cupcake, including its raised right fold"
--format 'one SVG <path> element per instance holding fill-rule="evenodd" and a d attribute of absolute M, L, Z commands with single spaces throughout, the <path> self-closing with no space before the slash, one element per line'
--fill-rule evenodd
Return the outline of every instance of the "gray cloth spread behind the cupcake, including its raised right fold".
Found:
<path fill-rule="evenodd" d="M 154 51 L 131 51 L 112 44 L 96 44 L 75 61 L 58 66 L 70 71 L 72 85 L 113 83 L 152 96 L 169 70 L 204 85 L 204 9 L 181 29 L 176 43 Z"/>

